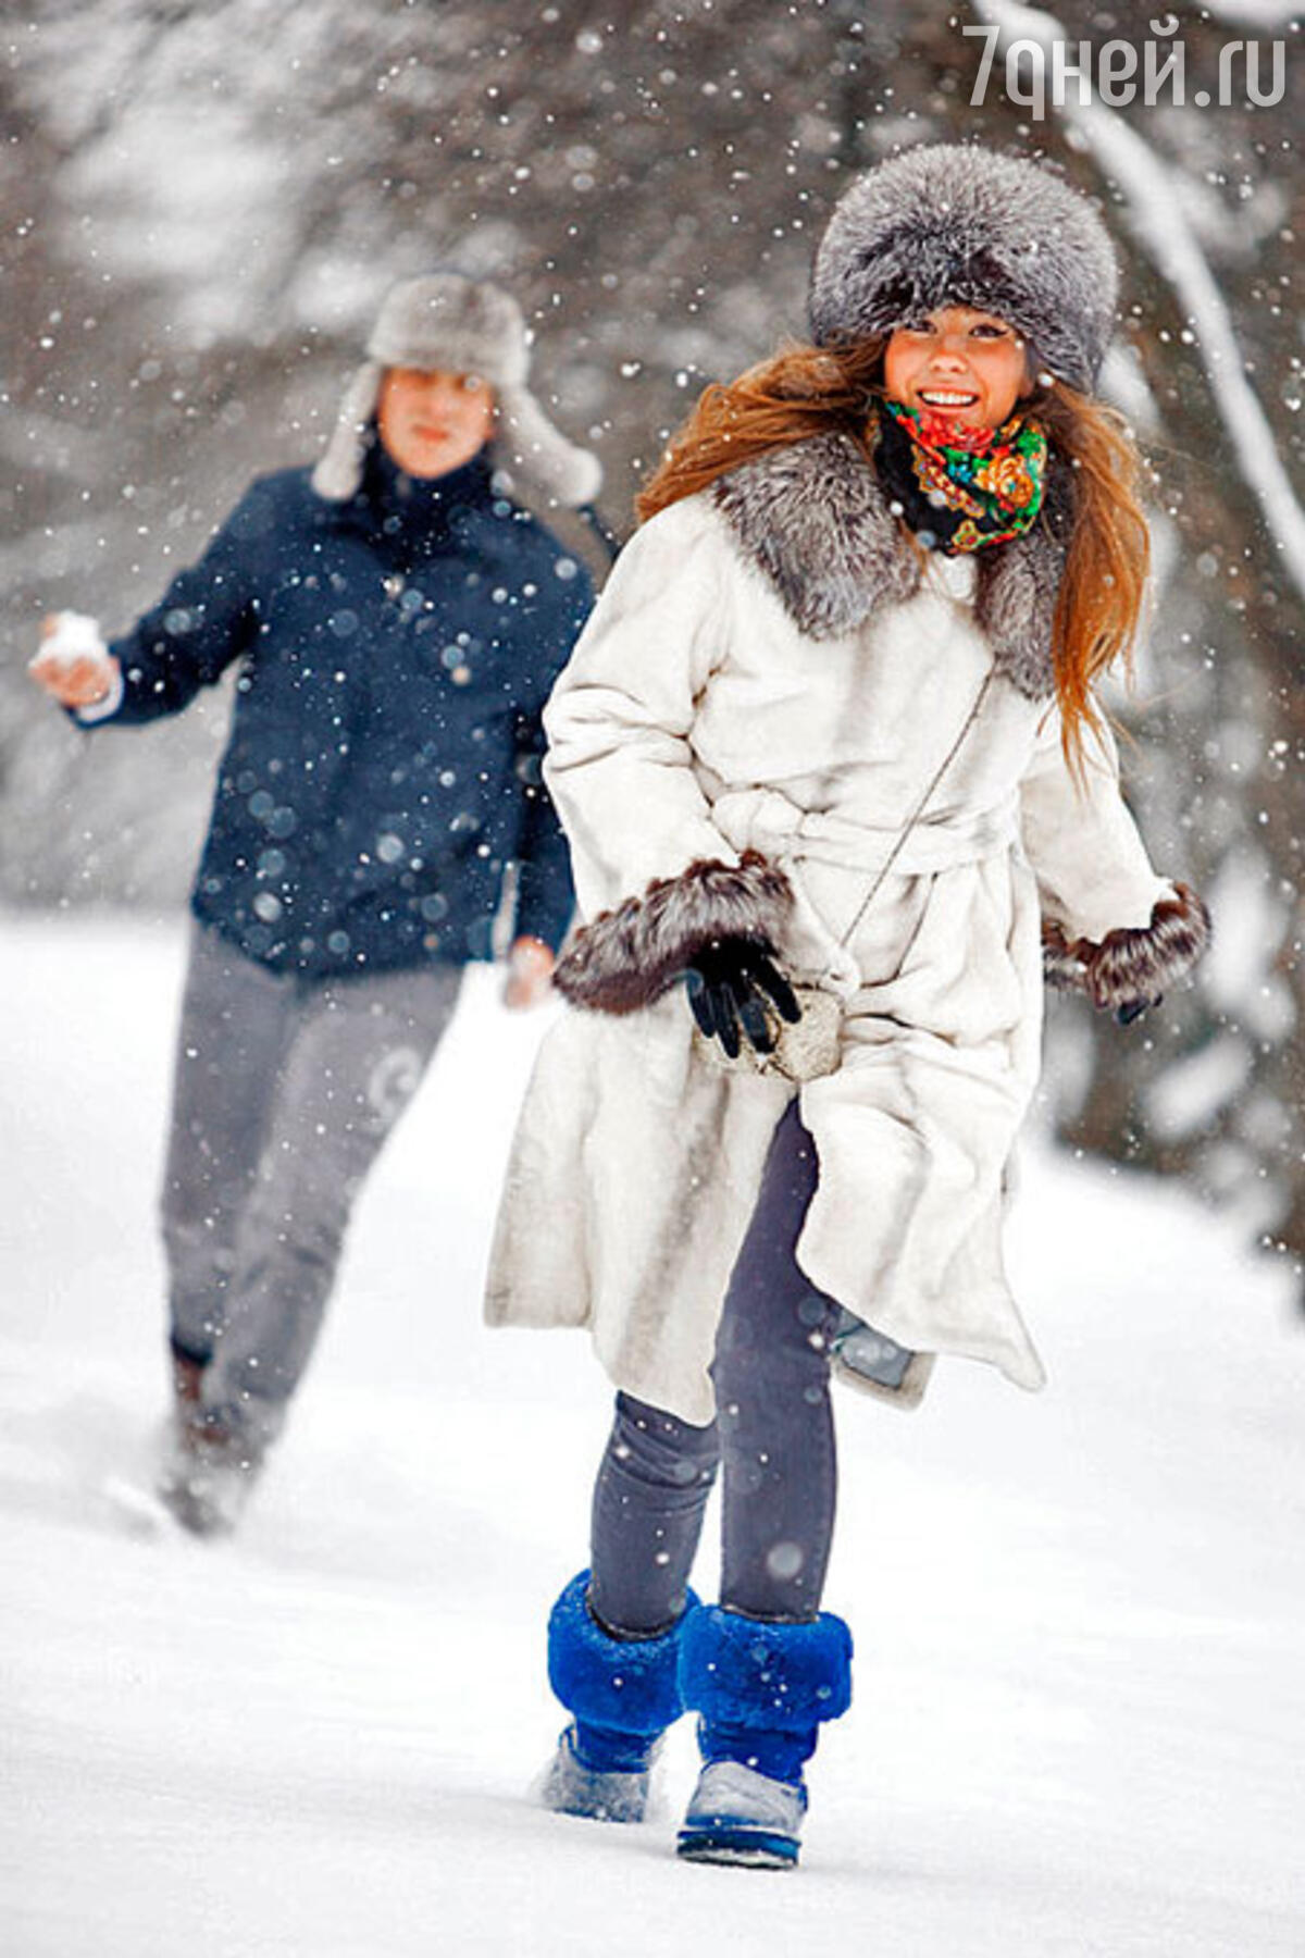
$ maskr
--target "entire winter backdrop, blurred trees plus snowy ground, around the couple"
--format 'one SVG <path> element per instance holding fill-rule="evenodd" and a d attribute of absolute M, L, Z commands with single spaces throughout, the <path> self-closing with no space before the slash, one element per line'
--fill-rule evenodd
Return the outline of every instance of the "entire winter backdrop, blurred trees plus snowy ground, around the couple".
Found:
<path fill-rule="evenodd" d="M 984 23 L 1127 41 L 1139 74 L 1148 41 L 1182 45 L 1188 100 L 1072 82 L 1035 117 L 998 63 L 974 106 Z M 1260 94 L 1283 43 L 1276 102 L 1225 57 L 1248 39 Z M 753 1958 L 820 1925 L 923 1958 L 1303 1948 L 1299 43 L 1280 0 L 1154 29 L 1090 0 L 4 8 L 6 1952 Z M 1197 104 L 1225 59 L 1233 100 Z M 777 1905 L 671 1882 L 669 1823 L 626 1842 L 520 1803 L 605 1386 L 579 1343 L 475 1331 L 538 1038 L 487 975 L 368 1192 L 248 1531 L 209 1557 L 133 1510 L 180 916 L 227 699 L 84 740 L 23 666 L 45 611 L 121 629 L 250 474 L 313 456 L 380 294 L 438 262 L 524 302 L 542 392 L 628 527 L 695 392 L 800 333 L 849 176 L 974 135 L 1053 157 L 1125 258 L 1107 388 L 1154 462 L 1158 582 L 1111 705 L 1217 948 L 1127 1034 L 1051 1006 L 1043 1138 L 1115 1157 L 1037 1147 L 1017 1208 L 1053 1392 L 1013 1408 L 949 1369 L 937 1418 L 843 1422 L 859 1713 Z M 679 1794 L 687 1735 L 673 1764 Z"/>

